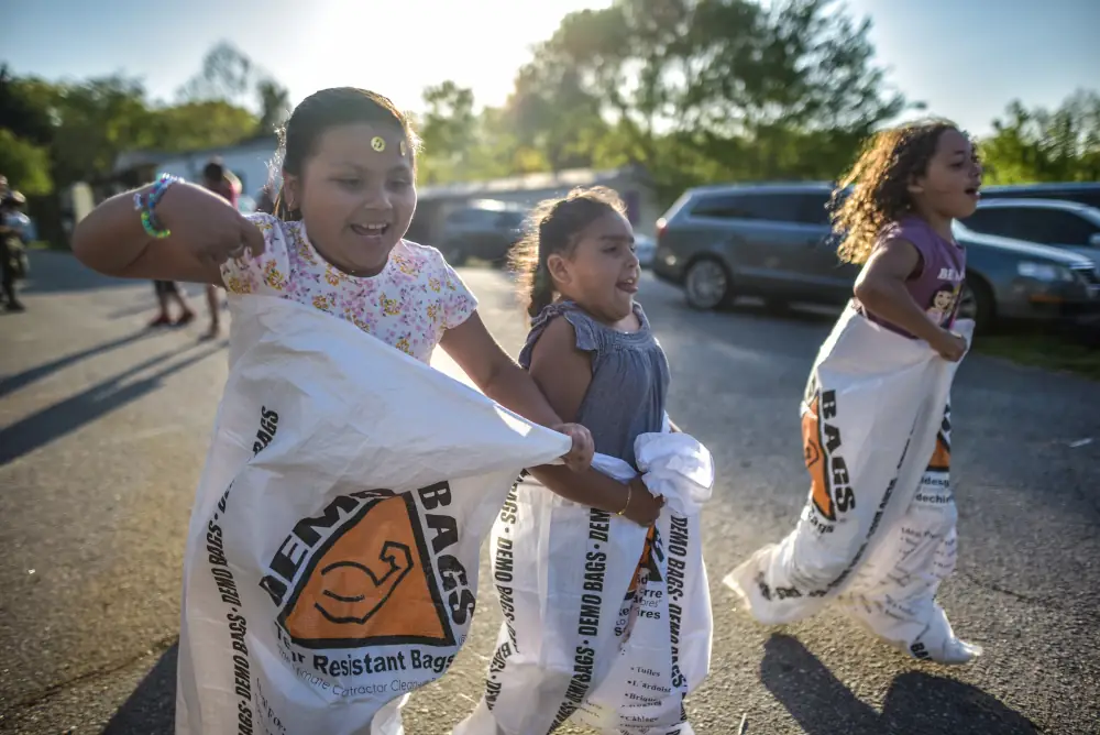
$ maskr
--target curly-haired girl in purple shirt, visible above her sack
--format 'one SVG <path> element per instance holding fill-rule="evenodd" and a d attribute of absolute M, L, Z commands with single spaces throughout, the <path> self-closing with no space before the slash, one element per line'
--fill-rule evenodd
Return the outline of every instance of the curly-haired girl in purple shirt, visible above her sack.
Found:
<path fill-rule="evenodd" d="M 834 217 L 846 232 L 840 259 L 864 265 L 854 306 L 958 361 L 966 342 L 950 328 L 966 250 L 955 242 L 952 223 L 978 205 L 981 166 L 970 140 L 941 121 L 886 131 L 843 184 L 854 190 Z"/>

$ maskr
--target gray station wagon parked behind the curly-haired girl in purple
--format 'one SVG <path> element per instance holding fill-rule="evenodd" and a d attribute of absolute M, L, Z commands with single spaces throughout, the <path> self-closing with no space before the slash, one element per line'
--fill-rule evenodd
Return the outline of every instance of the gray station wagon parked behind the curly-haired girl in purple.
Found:
<path fill-rule="evenodd" d="M 826 208 L 827 183 L 690 189 L 658 221 L 653 274 L 684 288 L 697 309 L 762 297 L 844 304 L 858 266 L 840 263 Z M 967 248 L 959 312 L 980 326 L 997 319 L 1058 319 L 1100 308 L 1100 278 L 1077 253 L 979 234 L 956 224 Z"/>

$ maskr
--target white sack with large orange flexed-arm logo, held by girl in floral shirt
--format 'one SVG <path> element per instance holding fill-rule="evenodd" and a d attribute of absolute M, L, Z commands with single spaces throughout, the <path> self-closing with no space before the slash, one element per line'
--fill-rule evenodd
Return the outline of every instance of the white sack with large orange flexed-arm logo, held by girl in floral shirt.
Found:
<path fill-rule="evenodd" d="M 400 733 L 404 695 L 465 641 L 480 545 L 515 478 L 570 440 L 340 319 L 272 297 L 231 307 L 176 732 Z"/>

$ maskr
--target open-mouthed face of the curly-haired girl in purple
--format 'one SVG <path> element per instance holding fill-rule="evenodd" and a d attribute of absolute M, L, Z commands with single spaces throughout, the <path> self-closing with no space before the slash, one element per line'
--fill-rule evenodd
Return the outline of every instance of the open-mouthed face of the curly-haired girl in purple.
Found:
<path fill-rule="evenodd" d="M 963 219 L 978 208 L 981 164 L 970 139 L 954 128 L 944 130 L 927 171 L 910 183 L 916 208 L 939 217 Z"/>

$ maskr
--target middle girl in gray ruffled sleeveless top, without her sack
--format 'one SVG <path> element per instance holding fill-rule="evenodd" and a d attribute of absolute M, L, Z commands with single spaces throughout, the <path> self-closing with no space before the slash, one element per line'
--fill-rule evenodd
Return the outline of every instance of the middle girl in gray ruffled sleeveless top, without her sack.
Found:
<path fill-rule="evenodd" d="M 641 275 L 625 206 L 610 189 L 575 189 L 535 210 L 513 264 L 531 331 L 519 364 L 566 421 L 588 427 L 596 451 L 635 464 L 634 441 L 660 431 L 669 363 L 635 301 Z M 554 493 L 645 526 L 662 501 L 640 479 L 624 484 L 597 470 L 531 470 Z M 637 469 L 637 468 L 636 468 Z"/>

